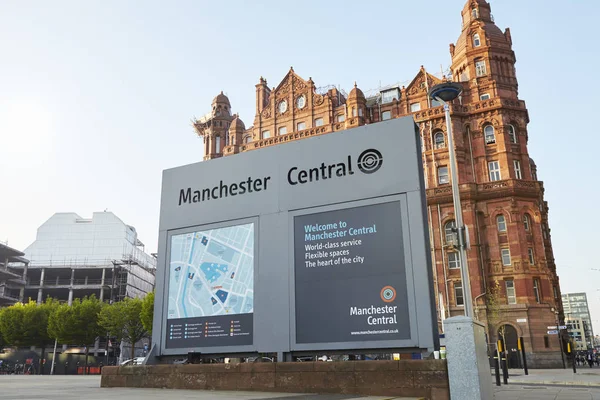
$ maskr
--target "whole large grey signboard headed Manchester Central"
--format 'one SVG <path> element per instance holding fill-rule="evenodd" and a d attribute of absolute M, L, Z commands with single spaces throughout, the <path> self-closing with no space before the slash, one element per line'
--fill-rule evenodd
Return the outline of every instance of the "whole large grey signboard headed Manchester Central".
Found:
<path fill-rule="evenodd" d="M 433 349 L 421 165 L 402 118 L 164 171 L 155 353 Z"/>

